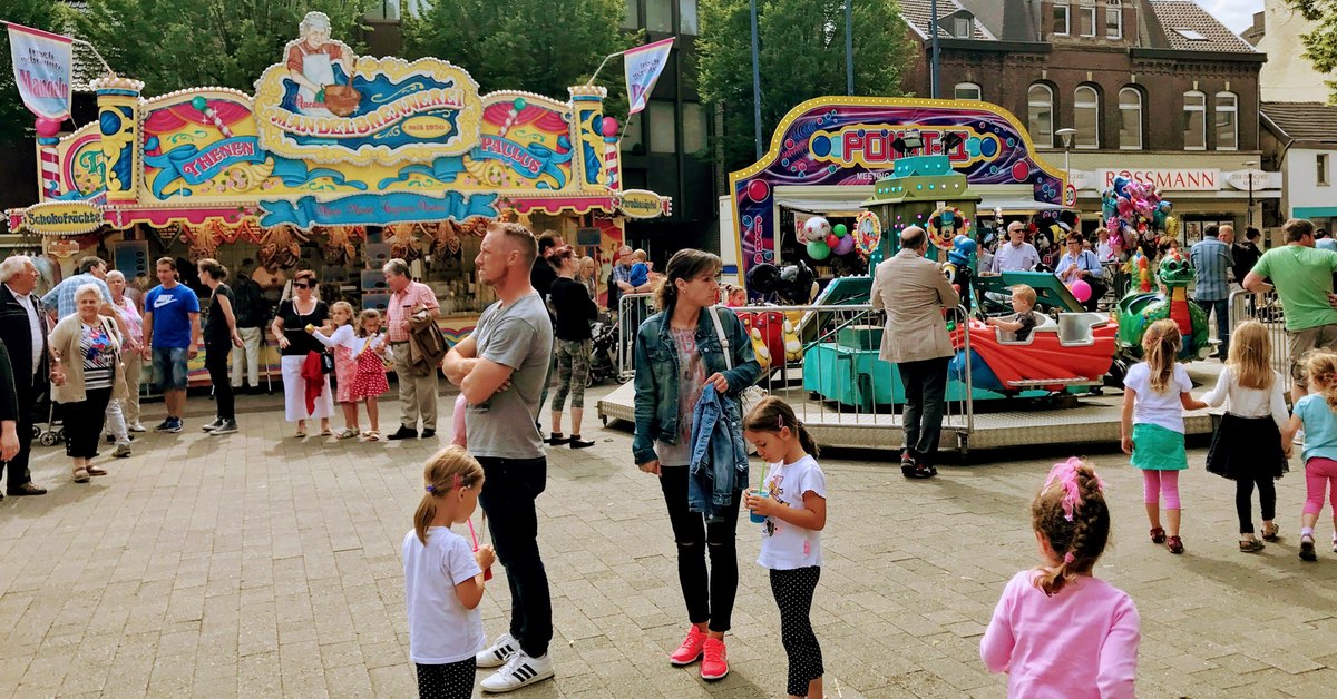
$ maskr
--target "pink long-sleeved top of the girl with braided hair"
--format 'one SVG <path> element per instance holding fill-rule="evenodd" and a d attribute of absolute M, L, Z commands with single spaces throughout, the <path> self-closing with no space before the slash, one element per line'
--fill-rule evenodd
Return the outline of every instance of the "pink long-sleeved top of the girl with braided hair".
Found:
<path fill-rule="evenodd" d="M 993 609 L 980 658 L 1008 674 L 1008 696 L 1132 698 L 1142 623 L 1128 593 L 1079 577 L 1052 597 L 1016 573 Z"/>

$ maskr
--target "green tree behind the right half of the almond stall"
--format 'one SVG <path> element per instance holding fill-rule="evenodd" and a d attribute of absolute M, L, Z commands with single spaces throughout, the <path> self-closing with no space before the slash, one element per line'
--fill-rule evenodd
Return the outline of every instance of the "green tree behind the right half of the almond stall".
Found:
<path fill-rule="evenodd" d="M 624 11 L 624 0 L 437 0 L 404 19 L 404 52 L 449 60 L 484 94 L 523 90 L 566 102 L 567 88 L 584 84 L 604 56 L 640 43 L 619 28 Z M 620 61 L 608 61 L 599 84 L 608 88 L 604 112 L 624 114 Z"/>

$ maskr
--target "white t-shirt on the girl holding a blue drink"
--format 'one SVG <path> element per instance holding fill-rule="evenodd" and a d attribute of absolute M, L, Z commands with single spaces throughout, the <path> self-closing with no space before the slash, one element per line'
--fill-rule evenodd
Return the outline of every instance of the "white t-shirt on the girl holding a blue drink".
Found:
<path fill-rule="evenodd" d="M 817 460 L 805 456 L 793 464 L 771 464 L 762 489 L 792 508 L 804 507 L 804 493 L 826 497 L 826 474 Z M 766 517 L 761 525 L 761 555 L 757 563 L 771 571 L 793 571 L 822 564 L 822 533 L 794 527 L 779 517 Z"/>

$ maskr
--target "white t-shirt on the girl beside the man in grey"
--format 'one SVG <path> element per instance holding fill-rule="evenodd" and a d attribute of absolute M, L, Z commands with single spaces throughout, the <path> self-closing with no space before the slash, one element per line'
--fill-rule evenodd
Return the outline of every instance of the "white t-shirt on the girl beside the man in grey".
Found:
<path fill-rule="evenodd" d="M 404 535 L 404 601 L 409 613 L 409 659 L 444 666 L 483 650 L 483 616 L 465 609 L 455 585 L 481 573 L 473 547 L 447 527 L 429 527 L 427 545 Z"/>

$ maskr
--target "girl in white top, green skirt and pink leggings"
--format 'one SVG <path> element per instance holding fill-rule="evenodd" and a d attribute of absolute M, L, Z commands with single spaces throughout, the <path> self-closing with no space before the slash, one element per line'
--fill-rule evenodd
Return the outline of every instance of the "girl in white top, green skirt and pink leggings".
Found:
<path fill-rule="evenodd" d="M 1142 493 L 1151 521 L 1151 543 L 1170 553 L 1183 553 L 1179 539 L 1179 472 L 1189 468 L 1183 448 L 1183 412 L 1206 408 L 1193 400 L 1193 381 L 1175 362 L 1183 338 L 1171 319 L 1157 321 L 1142 335 L 1144 361 L 1132 365 L 1123 380 L 1123 453 L 1142 469 Z M 1161 500 L 1166 525 L 1161 528 Z"/>

